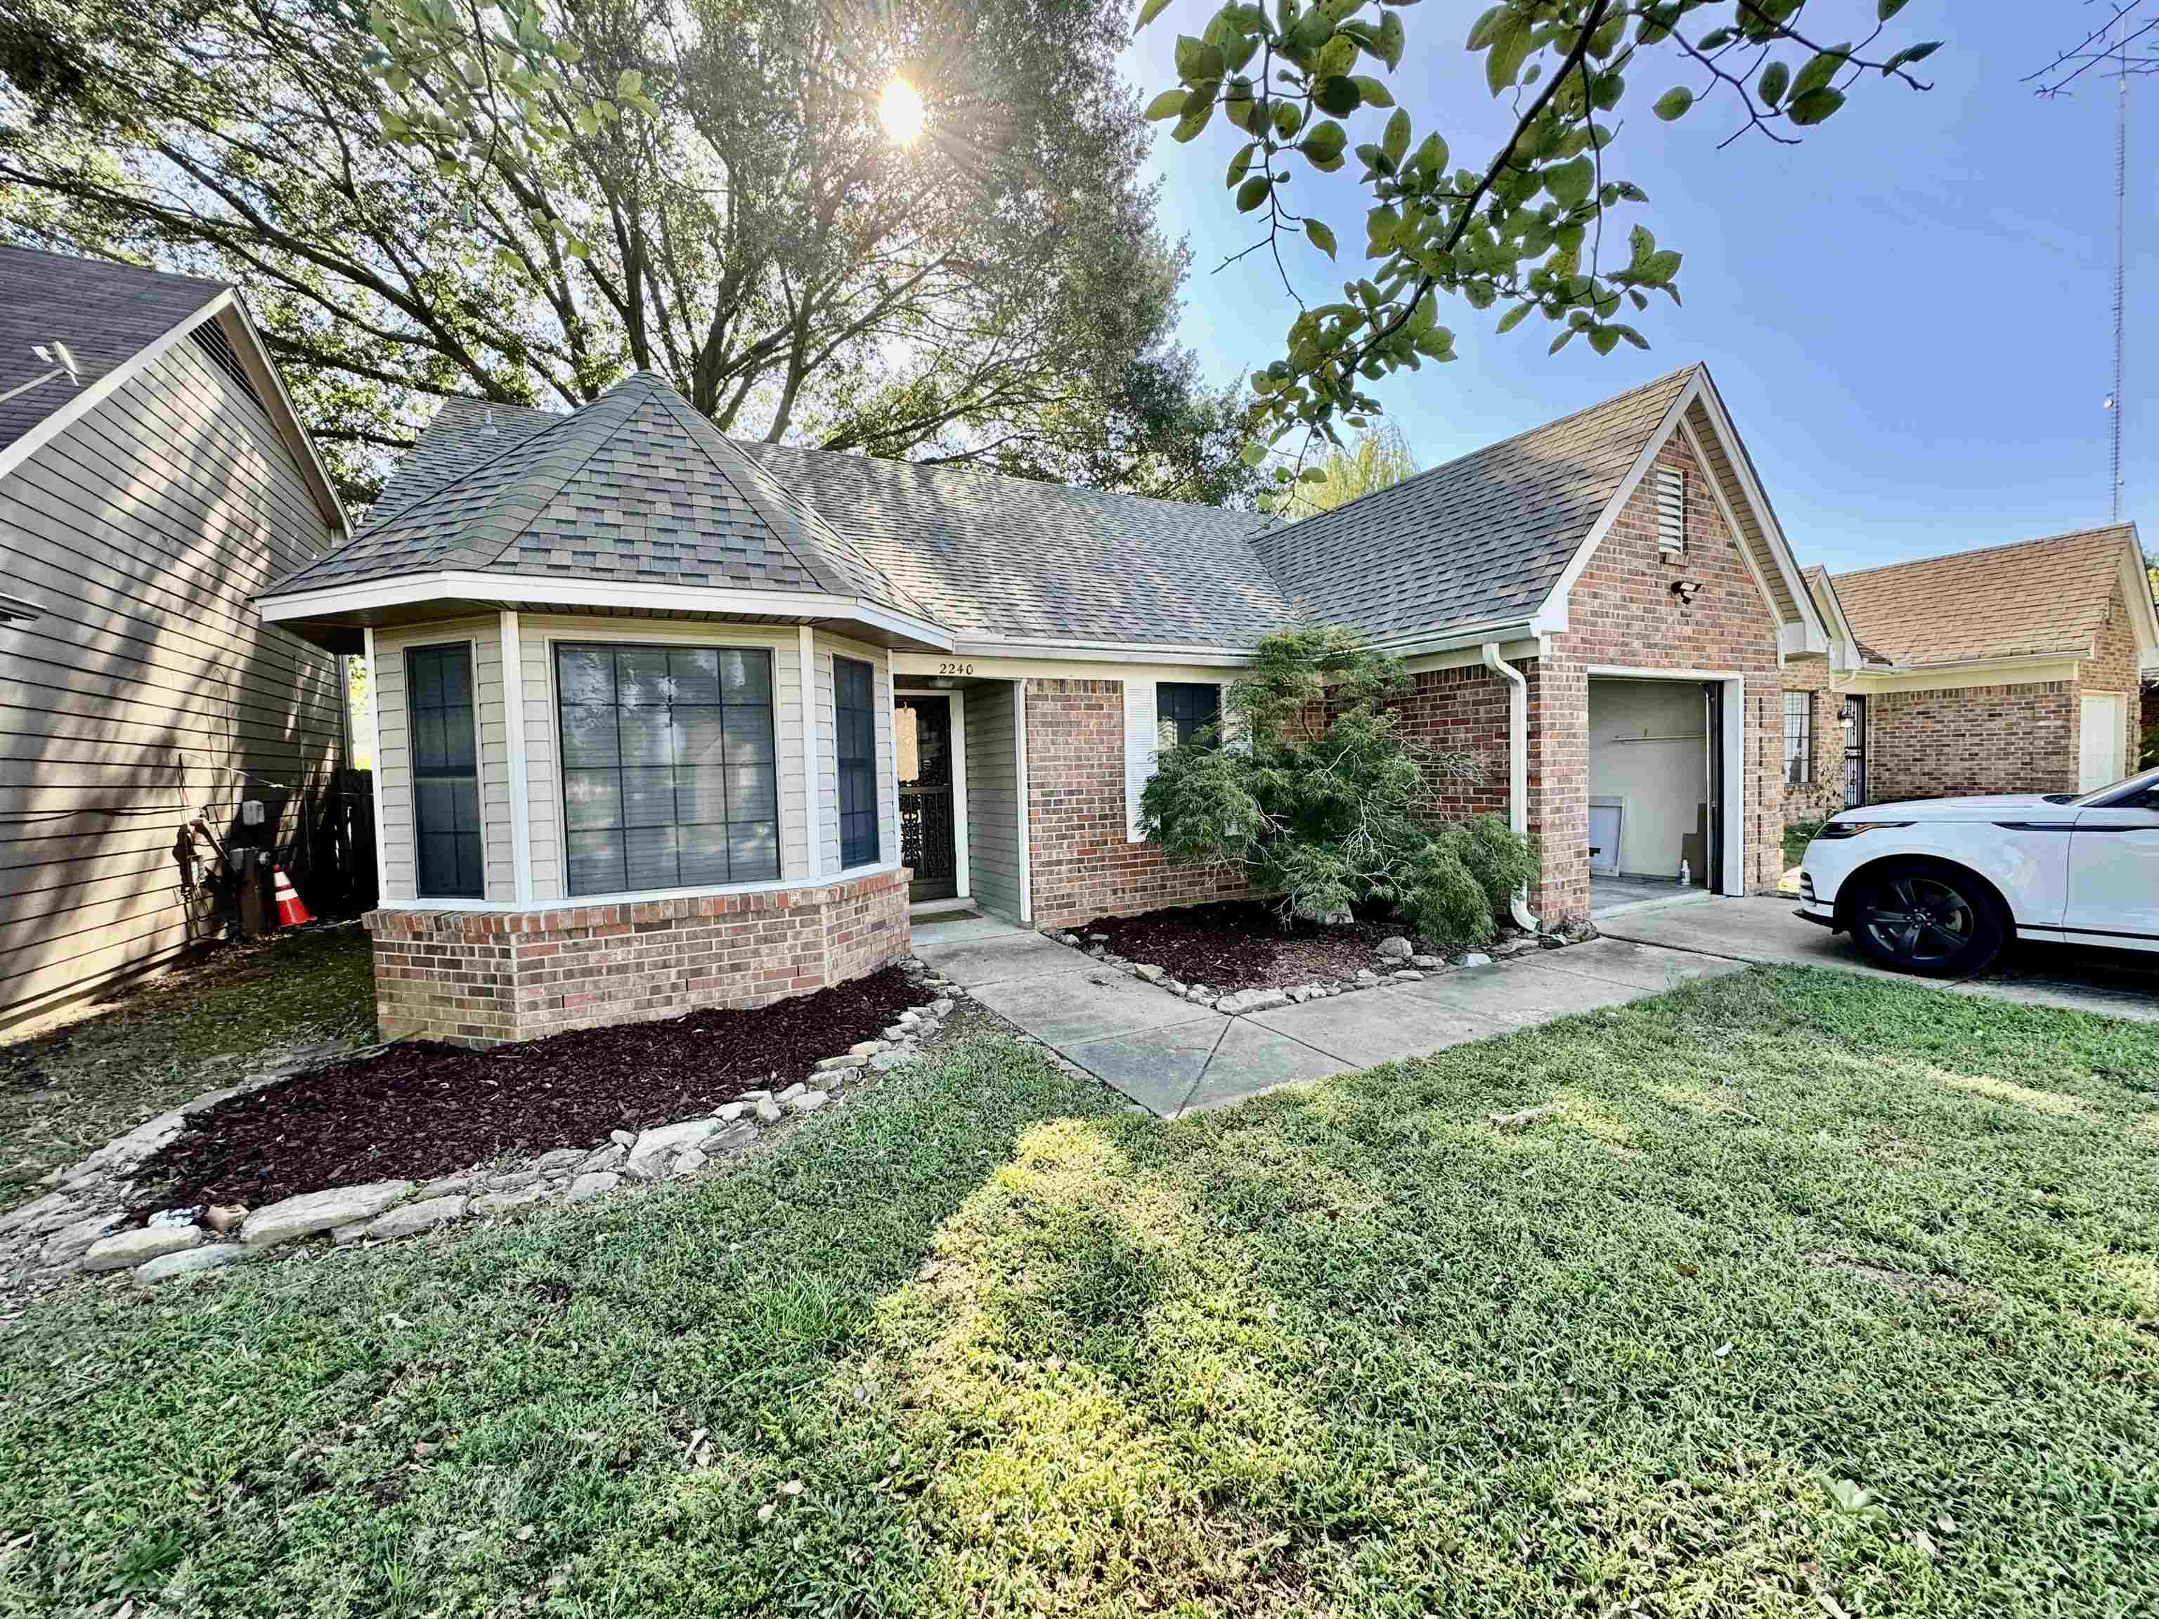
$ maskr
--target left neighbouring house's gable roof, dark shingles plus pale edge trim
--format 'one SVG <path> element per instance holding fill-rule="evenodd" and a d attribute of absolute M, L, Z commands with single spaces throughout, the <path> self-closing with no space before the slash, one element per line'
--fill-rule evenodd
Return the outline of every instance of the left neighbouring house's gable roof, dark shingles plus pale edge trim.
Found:
<path fill-rule="evenodd" d="M 0 246 L 0 393 L 52 367 L 32 345 L 65 343 L 76 378 L 39 382 L 0 399 L 0 477 L 35 455 L 73 421 L 142 371 L 173 343 L 216 322 L 263 412 L 307 477 L 322 516 L 350 529 L 315 443 L 307 434 L 276 363 L 248 319 L 231 283 L 175 276 L 110 259 Z"/>

